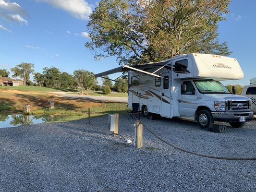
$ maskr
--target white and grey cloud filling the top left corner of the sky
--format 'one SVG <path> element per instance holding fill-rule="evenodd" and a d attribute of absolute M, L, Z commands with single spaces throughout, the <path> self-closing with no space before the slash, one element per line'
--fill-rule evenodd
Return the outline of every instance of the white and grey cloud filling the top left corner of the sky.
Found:
<path fill-rule="evenodd" d="M 18 3 L 0 0 L 0 17 L 19 24 L 28 24 L 24 17 L 29 15 Z"/>

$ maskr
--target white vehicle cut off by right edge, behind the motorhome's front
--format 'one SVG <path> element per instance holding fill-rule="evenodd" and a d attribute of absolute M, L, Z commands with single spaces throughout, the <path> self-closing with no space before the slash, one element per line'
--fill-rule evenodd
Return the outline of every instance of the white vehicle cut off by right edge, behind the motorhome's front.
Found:
<path fill-rule="evenodd" d="M 244 86 L 242 96 L 252 100 L 252 110 L 256 114 L 256 77 L 251 79 L 250 85 Z"/>

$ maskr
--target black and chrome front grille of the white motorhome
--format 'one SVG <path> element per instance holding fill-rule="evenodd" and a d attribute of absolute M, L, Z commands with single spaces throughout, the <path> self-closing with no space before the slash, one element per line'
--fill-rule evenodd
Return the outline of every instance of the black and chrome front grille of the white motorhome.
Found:
<path fill-rule="evenodd" d="M 226 108 L 228 111 L 248 111 L 251 106 L 249 100 L 228 100 Z"/>

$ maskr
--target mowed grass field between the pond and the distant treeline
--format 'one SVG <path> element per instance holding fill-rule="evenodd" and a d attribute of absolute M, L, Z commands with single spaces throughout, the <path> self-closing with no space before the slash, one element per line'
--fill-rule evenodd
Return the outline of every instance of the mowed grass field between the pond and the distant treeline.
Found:
<path fill-rule="evenodd" d="M 52 93 L 54 92 L 54 94 Z M 31 105 L 30 115 L 63 115 L 62 120 L 77 120 L 88 117 L 88 108 L 91 116 L 100 116 L 110 113 L 124 113 L 126 104 L 91 101 L 85 98 L 62 97 L 56 92 L 80 94 L 76 89 L 47 88 L 36 86 L 1 87 L 0 86 L 0 114 L 23 114 L 24 105 Z M 94 94 L 94 92 L 92 92 Z M 95 95 L 100 95 L 95 93 Z M 123 96 L 116 93 L 110 96 Z M 107 95 L 109 96 L 109 95 Z M 54 101 L 55 108 L 49 109 L 49 100 Z"/>

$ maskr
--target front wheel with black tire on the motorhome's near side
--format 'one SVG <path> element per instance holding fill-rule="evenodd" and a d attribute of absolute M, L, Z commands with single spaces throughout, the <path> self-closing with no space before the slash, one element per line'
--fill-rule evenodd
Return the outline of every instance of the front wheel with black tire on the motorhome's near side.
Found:
<path fill-rule="evenodd" d="M 199 111 L 196 116 L 196 120 L 198 125 L 203 129 L 206 129 L 206 128 L 211 129 L 214 125 L 214 119 L 212 117 L 212 114 L 207 109 L 203 109 Z"/>

